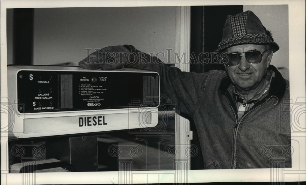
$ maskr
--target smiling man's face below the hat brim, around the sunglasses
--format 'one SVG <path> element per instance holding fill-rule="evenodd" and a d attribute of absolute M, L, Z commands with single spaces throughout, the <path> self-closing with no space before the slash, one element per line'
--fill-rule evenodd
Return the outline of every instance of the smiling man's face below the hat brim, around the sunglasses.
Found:
<path fill-rule="evenodd" d="M 265 45 L 244 44 L 236 45 L 226 49 L 228 54 L 242 53 L 248 51 L 260 51 L 263 53 L 266 50 Z M 226 66 L 226 71 L 237 88 L 237 90 L 252 91 L 259 87 L 259 84 L 263 83 L 263 79 L 266 77 L 267 68 L 270 65 L 271 57 L 273 53 L 267 51 L 263 54 L 260 63 L 248 63 L 245 56 L 241 56 L 240 63 L 236 66 Z"/>

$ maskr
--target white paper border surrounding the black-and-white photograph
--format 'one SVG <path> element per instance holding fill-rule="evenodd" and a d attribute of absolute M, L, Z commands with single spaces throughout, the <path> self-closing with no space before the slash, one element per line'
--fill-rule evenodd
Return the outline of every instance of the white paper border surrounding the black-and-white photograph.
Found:
<path fill-rule="evenodd" d="M 191 6 L 191 5 L 281 5 L 289 8 L 289 75 L 290 98 L 305 100 L 305 1 L 9 1 L 1 0 L 1 97 L 7 97 L 6 55 L 6 9 L 49 7 L 112 7 L 112 6 Z M 302 103 L 305 104 L 305 102 Z M 2 101 L 2 99 L 1 99 Z M 7 116 L 1 114 L 1 128 L 7 124 Z M 300 123 L 305 128 L 305 122 Z M 293 158 L 292 168 L 283 170 L 285 181 L 305 181 L 305 133 L 293 133 L 292 140 L 298 142 L 298 159 Z M 23 183 L 23 174 L 8 173 L 7 136 L 1 135 L 1 184 Z M 132 171 L 132 183 L 174 183 L 176 170 Z M 199 182 L 267 182 L 271 180 L 271 169 L 222 169 L 188 170 L 188 183 Z M 74 172 L 36 173 L 35 184 L 100 184 L 118 183 L 119 172 Z M 31 179 L 31 178 L 30 178 Z M 31 182 L 28 182 L 31 183 Z"/>

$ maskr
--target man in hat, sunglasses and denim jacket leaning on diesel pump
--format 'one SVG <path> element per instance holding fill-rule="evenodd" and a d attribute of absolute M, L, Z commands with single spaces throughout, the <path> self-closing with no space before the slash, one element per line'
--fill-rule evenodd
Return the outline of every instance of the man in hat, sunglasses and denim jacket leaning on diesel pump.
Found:
<path fill-rule="evenodd" d="M 290 115 L 282 112 L 289 83 L 270 65 L 278 49 L 258 17 L 246 11 L 229 15 L 224 25 L 216 51 L 228 54 L 226 71 L 182 72 L 131 45 L 103 48 L 79 66 L 157 71 L 162 94 L 196 124 L 205 169 L 291 167 Z"/>

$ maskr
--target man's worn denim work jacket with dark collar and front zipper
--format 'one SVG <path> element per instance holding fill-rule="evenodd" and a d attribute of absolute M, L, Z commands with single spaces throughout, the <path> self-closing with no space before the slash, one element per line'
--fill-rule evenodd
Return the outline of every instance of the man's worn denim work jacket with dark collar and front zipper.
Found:
<path fill-rule="evenodd" d="M 206 169 L 291 167 L 289 83 L 274 66 L 268 68 L 275 77 L 267 98 L 237 122 L 236 100 L 227 90 L 231 81 L 225 71 L 197 74 L 139 62 L 132 67 L 158 72 L 162 96 L 195 122 Z"/>

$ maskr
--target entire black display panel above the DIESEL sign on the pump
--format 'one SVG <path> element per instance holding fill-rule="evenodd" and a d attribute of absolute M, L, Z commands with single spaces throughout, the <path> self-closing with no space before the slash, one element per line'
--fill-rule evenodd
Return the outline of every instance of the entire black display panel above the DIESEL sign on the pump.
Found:
<path fill-rule="evenodd" d="M 159 103 L 156 78 L 156 73 L 22 70 L 17 98 L 27 105 L 25 113 L 127 108 L 136 99 L 154 106 Z"/>

